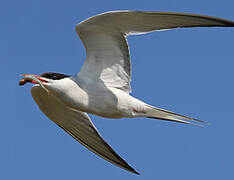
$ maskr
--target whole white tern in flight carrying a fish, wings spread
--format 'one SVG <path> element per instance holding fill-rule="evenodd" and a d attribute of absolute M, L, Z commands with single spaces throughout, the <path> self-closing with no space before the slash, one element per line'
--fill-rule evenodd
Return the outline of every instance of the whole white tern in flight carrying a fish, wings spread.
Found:
<path fill-rule="evenodd" d="M 154 107 L 130 95 L 131 67 L 126 36 L 172 28 L 215 26 L 234 27 L 234 22 L 168 12 L 99 14 L 76 26 L 87 55 L 77 75 L 23 75 L 19 85 L 35 83 L 31 88 L 32 97 L 49 119 L 100 157 L 139 174 L 104 141 L 88 113 L 106 118 L 147 117 L 188 124 L 203 121 Z"/>

